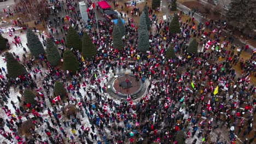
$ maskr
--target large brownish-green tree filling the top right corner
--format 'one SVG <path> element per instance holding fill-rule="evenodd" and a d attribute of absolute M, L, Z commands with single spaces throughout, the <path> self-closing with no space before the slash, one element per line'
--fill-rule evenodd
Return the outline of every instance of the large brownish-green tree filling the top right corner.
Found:
<path fill-rule="evenodd" d="M 244 33 L 256 29 L 256 1 L 231 0 L 229 6 L 226 19 L 234 28 L 238 27 Z"/>

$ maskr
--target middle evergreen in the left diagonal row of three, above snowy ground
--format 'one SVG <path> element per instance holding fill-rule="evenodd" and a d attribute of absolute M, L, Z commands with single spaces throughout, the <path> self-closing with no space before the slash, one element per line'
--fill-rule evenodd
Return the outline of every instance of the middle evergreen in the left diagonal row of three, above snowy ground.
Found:
<path fill-rule="evenodd" d="M 60 53 L 57 50 L 57 46 L 49 38 L 47 39 L 46 44 L 46 54 L 46 57 L 51 65 L 57 66 L 60 64 Z"/>

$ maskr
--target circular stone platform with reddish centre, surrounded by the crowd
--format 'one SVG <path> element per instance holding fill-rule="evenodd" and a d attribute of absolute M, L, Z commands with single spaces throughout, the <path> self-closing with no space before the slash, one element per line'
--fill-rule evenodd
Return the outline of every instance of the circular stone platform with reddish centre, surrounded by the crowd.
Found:
<path fill-rule="evenodd" d="M 136 99 L 144 94 L 146 88 L 141 79 L 136 79 L 135 75 L 131 74 L 119 74 L 110 79 L 108 83 L 108 92 L 110 95 L 118 95 L 121 98 L 126 99 L 127 95 L 131 95 L 131 98 Z"/>

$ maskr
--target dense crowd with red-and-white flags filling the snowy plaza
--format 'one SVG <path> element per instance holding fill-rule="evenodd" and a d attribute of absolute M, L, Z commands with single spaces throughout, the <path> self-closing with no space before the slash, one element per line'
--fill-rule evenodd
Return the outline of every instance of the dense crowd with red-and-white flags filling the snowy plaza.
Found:
<path fill-rule="evenodd" d="M 65 33 L 73 26 L 81 36 L 83 33 L 90 35 L 98 53 L 92 61 L 84 61 L 79 51 L 73 51 L 79 60 L 79 70 L 73 74 L 52 67 L 43 55 L 39 61 L 24 55 L 21 62 L 29 73 L 17 79 L 4 77 L 2 74 L 7 71 L 2 68 L 1 104 L 6 116 L 0 120 L 8 128 L 2 125 L 0 132 L 7 143 L 178 143 L 181 139 L 189 139 L 189 143 L 205 143 L 211 141 L 210 134 L 218 128 L 228 129 L 221 131 L 227 133 L 229 141 L 218 133 L 211 143 L 235 143 L 235 133 L 245 138 L 255 135 L 252 133 L 255 133 L 256 100 L 253 95 L 256 88 L 250 83 L 255 69 L 248 63 L 254 57 L 244 62 L 240 53 L 235 52 L 231 38 L 220 44 L 221 29 L 215 33 L 205 30 L 211 21 L 196 26 L 193 18 L 182 22 L 184 14 L 178 14 L 182 33 L 170 35 L 168 25 L 172 16 L 170 20 L 158 21 L 150 10 L 153 23 L 150 49 L 142 53 L 137 49 L 133 17 L 127 13 L 125 46 L 117 50 L 113 49 L 110 37 L 113 23 L 98 20 L 97 32 L 94 10 L 90 11 L 89 21 L 83 25 L 76 4 L 54 2 L 54 13 L 65 9 L 70 18 L 55 14 L 60 17 L 57 18 L 59 21 L 63 19 L 62 23 L 57 19 L 50 22 L 53 27 L 56 25 L 55 31 L 51 28 L 50 34 L 40 34 L 40 39 L 51 38 L 63 56 Z M 56 29 L 61 29 L 63 39 L 55 38 Z M 213 39 L 211 35 L 214 35 Z M 187 53 L 191 37 L 200 38 L 200 43 L 205 45 L 211 39 L 213 49 Z M 176 51 L 175 59 L 165 58 L 170 45 Z M 231 49 L 228 49 L 229 45 L 232 45 Z M 243 71 L 241 75 L 232 68 L 237 62 Z M 133 67 L 129 68 L 130 65 Z M 148 83 L 146 93 L 133 102 L 126 98 L 113 100 L 106 93 L 109 76 L 126 69 Z M 53 97 L 51 92 L 56 81 L 65 86 L 67 99 L 52 103 L 56 95 Z M 19 89 L 21 95 L 27 87 L 37 91 L 36 104 L 25 103 L 22 97 L 10 95 L 11 86 Z M 17 97 L 19 102 L 11 101 L 10 97 Z M 65 106 L 70 104 L 74 104 L 78 111 L 67 116 Z M 18 129 L 22 122 L 30 119 L 36 127 L 30 128 L 31 135 L 24 137 Z M 243 143 L 253 143 L 254 137 Z"/>

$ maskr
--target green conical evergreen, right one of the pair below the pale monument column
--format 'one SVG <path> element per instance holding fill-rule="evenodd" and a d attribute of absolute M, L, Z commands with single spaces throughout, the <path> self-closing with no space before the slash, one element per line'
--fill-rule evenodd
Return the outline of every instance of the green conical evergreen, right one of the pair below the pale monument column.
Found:
<path fill-rule="evenodd" d="M 92 58 L 97 55 L 96 46 L 92 43 L 92 40 L 89 38 L 87 33 L 84 33 L 82 46 L 82 53 L 84 58 Z"/>

